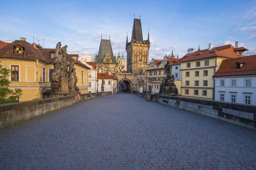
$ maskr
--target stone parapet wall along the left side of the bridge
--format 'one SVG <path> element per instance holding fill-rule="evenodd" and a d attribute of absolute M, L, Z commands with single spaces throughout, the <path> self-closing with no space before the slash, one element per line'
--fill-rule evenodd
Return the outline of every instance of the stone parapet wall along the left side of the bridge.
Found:
<path fill-rule="evenodd" d="M 99 92 L 2 104 L 0 105 L 0 129 L 42 116 L 44 114 L 78 103 L 79 101 L 110 94 L 112 94 L 111 91 L 108 93 Z"/>

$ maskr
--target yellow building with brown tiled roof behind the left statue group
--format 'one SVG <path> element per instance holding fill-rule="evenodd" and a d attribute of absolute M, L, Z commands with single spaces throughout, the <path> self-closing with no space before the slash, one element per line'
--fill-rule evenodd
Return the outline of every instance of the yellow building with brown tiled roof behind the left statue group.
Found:
<path fill-rule="evenodd" d="M 0 49 L 1 64 L 11 70 L 10 89 L 19 88 L 19 101 L 49 98 L 51 93 L 50 74 L 55 61 L 55 49 L 45 49 L 30 44 L 26 38 L 15 40 Z M 67 61 L 75 61 L 67 54 Z M 75 61 L 77 86 L 81 93 L 88 92 L 89 67 Z"/>

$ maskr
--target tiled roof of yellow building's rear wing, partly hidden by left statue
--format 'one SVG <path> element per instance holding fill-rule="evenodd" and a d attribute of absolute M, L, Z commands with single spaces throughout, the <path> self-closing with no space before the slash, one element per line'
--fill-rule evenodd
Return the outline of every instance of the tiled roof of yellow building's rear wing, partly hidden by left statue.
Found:
<path fill-rule="evenodd" d="M 55 61 L 55 58 L 51 57 L 51 53 L 50 52 L 54 52 L 55 53 L 55 49 L 54 48 L 41 48 L 39 49 L 39 51 L 41 52 L 41 54 L 44 56 L 44 58 L 46 59 L 47 63 L 53 63 Z M 71 54 L 72 56 L 74 56 L 74 54 Z M 72 58 L 70 56 L 70 54 L 67 53 L 67 57 L 66 60 L 71 63 L 71 62 L 75 62 L 75 64 L 78 64 L 82 67 L 85 67 L 86 69 L 90 70 L 90 68 L 86 65 L 84 65 L 83 63 L 75 60 L 74 58 Z"/>

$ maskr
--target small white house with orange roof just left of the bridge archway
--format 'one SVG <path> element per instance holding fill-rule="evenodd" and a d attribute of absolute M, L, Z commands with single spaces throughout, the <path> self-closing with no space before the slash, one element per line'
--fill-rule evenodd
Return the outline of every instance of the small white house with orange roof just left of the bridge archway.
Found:
<path fill-rule="evenodd" d="M 97 74 L 98 78 L 98 92 L 101 92 L 101 87 L 102 87 L 102 80 L 104 80 L 104 91 L 111 91 L 112 94 L 115 94 L 117 92 L 117 79 L 112 77 L 111 75 L 107 73 L 98 73 Z"/>

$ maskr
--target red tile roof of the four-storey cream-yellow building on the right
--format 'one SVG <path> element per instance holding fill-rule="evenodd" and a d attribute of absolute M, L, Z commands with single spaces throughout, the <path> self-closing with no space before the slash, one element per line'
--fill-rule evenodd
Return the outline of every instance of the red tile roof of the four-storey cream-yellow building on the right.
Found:
<path fill-rule="evenodd" d="M 244 50 L 246 48 L 240 47 L 239 51 Z M 193 54 L 186 54 L 183 56 L 183 60 L 181 62 L 200 60 L 203 58 L 210 58 L 215 56 L 227 57 L 227 58 L 237 58 L 238 55 L 235 52 L 235 49 L 232 45 L 225 45 L 219 47 L 213 47 L 210 51 L 208 49 L 198 50 Z M 246 49 L 247 50 L 247 49 Z"/>

